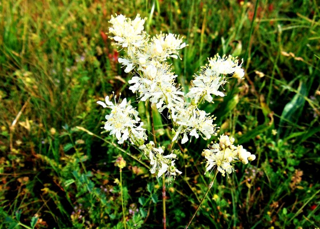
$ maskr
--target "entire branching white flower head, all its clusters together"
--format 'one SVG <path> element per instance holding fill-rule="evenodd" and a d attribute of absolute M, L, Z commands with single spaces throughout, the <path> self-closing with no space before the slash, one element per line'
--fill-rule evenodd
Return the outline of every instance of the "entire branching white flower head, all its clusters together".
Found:
<path fill-rule="evenodd" d="M 236 57 L 220 57 L 218 54 L 209 58 L 208 64 L 195 74 L 189 92 L 185 95 L 176 83 L 177 75 L 166 62 L 170 57 L 180 58 L 179 50 L 186 47 L 183 37 L 160 33 L 150 38 L 144 31 L 145 20 L 138 14 L 134 20 L 116 15 L 111 16 L 109 21 L 112 24 L 109 28 L 110 38 L 114 40 L 114 45 L 126 52 L 125 57 L 118 61 L 123 65 L 124 72 L 133 72 L 134 75 L 129 80 L 129 89 L 137 94 L 140 101 L 155 104 L 160 113 L 165 110 L 172 121 L 173 146 L 177 141 L 182 144 L 191 141 L 192 137 L 201 136 L 207 140 L 212 135 L 217 136 L 219 127 L 214 124 L 215 117 L 199 109 L 198 105 L 204 101 L 212 103 L 213 95 L 225 96 L 223 85 L 227 83 L 227 79 L 243 79 L 242 62 L 239 64 Z M 181 174 L 175 165 L 179 150 L 171 147 L 166 154 L 164 147 L 155 142 L 145 143 L 146 129 L 130 101 L 127 102 L 124 98 L 121 103 L 115 101 L 113 104 L 107 96 L 105 102 L 98 103 L 111 109 L 110 114 L 106 115 L 104 129 L 115 135 L 119 144 L 129 140 L 141 149 L 143 155 L 150 160 L 151 173 L 157 172 L 158 177 L 165 175 L 174 178 L 177 173 Z M 225 176 L 226 172 L 229 174 L 233 171 L 235 162 L 247 164 L 255 159 L 242 146 L 233 145 L 233 137 L 220 135 L 219 140 L 219 143 L 212 143 L 202 153 L 207 159 L 206 172 L 216 167 Z"/>

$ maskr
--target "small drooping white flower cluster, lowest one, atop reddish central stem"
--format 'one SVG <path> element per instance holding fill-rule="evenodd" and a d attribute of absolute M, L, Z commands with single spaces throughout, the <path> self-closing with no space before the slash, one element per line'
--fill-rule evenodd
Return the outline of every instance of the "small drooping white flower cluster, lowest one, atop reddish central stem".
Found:
<path fill-rule="evenodd" d="M 145 156 L 150 159 L 150 164 L 152 165 L 150 172 L 152 174 L 158 172 L 158 177 L 164 174 L 165 176 L 169 176 L 170 180 L 171 176 L 175 178 L 177 173 L 182 173 L 175 167 L 174 159 L 177 159 L 177 155 L 171 153 L 164 156 L 164 147 L 159 146 L 155 148 L 155 143 L 150 141 L 147 145 L 140 147 L 140 149 L 143 149 Z"/>

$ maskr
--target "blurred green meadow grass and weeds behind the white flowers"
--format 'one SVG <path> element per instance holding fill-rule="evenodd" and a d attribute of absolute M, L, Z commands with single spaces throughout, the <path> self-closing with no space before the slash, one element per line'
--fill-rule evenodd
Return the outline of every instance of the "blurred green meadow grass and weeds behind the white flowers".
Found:
<path fill-rule="evenodd" d="M 244 58 L 245 80 L 204 104 L 220 133 L 258 155 L 218 176 L 191 228 L 320 226 L 320 8 L 316 0 L 6 0 L 0 2 L 0 228 L 122 228 L 122 154 L 129 228 L 162 227 L 160 181 L 130 145 L 101 135 L 97 100 L 128 90 L 132 77 L 108 38 L 112 14 L 148 17 L 151 34 L 184 36 L 173 60 L 188 91 L 216 53 Z M 143 121 L 150 117 L 143 104 Z M 157 137 L 170 144 L 155 112 Z M 81 131 L 86 128 L 97 136 Z M 98 138 L 100 137 L 100 138 Z M 217 140 L 212 138 L 210 141 Z M 167 188 L 167 224 L 184 228 L 210 182 L 201 151 L 182 145 L 183 174 Z"/>

